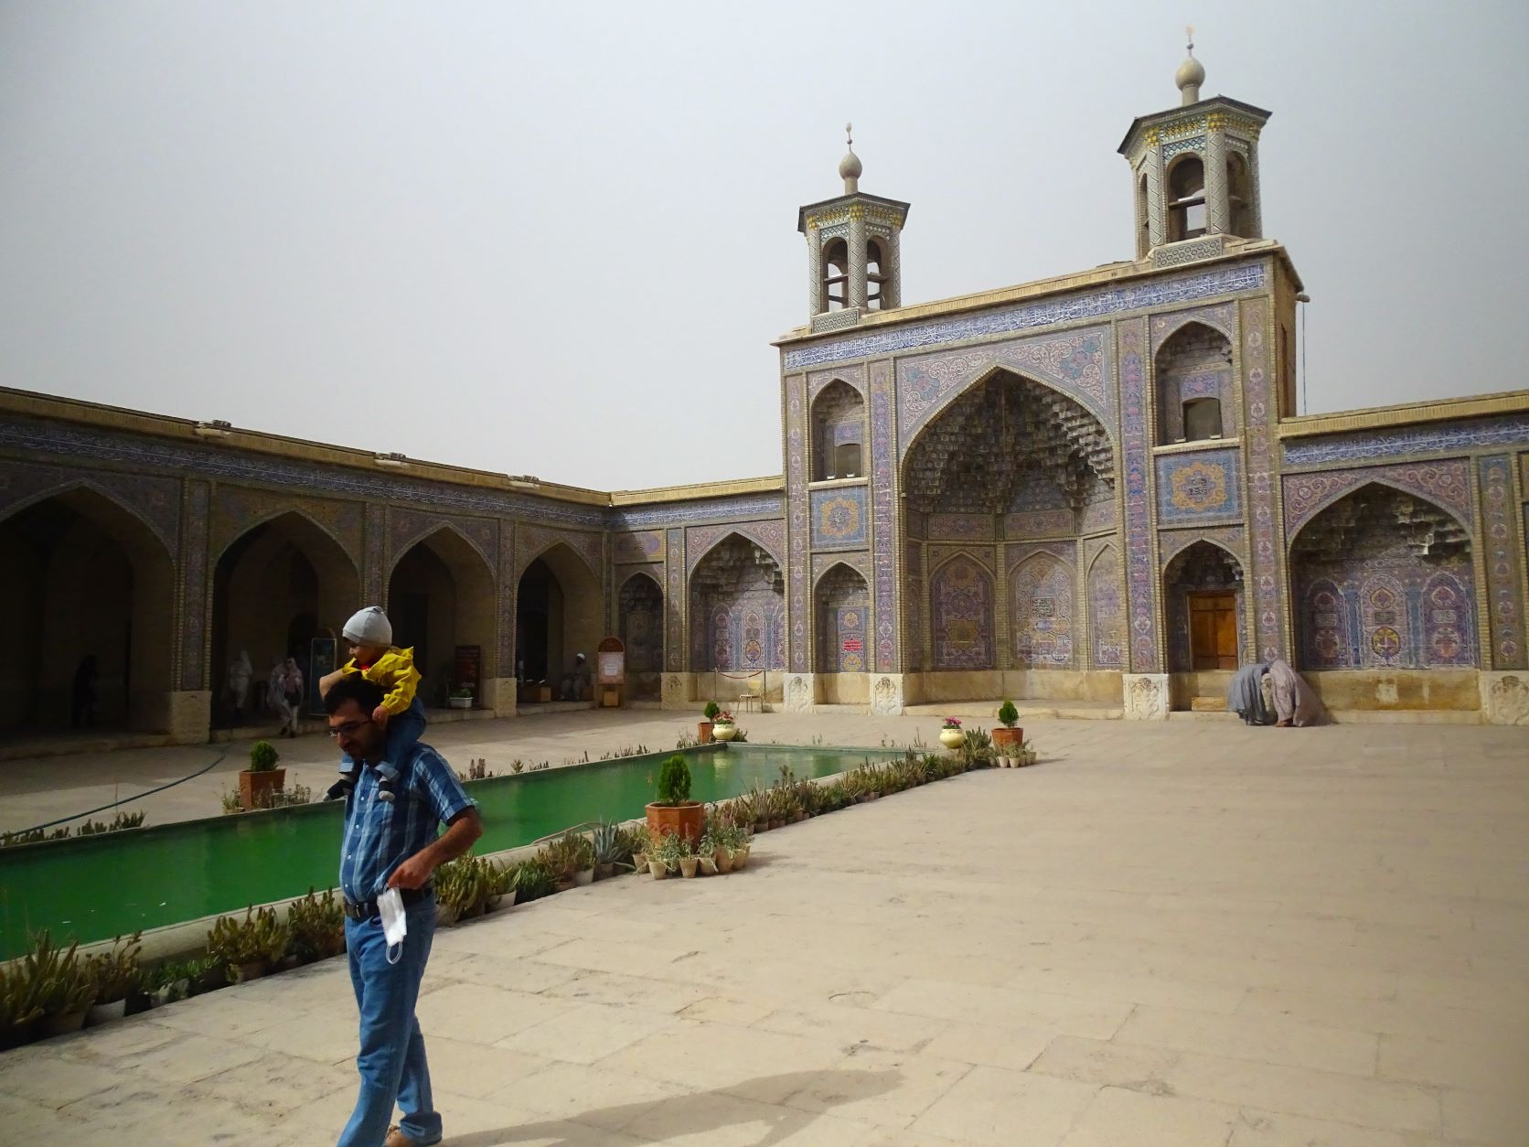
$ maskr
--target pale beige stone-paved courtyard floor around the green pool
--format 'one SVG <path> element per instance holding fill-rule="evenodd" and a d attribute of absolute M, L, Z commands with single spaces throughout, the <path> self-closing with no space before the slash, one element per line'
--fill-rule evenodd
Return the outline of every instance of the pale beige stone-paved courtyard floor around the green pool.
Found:
<path fill-rule="evenodd" d="M 677 728 L 602 716 L 547 719 L 544 755 Z M 772 717 L 754 740 L 933 731 Z M 529 723 L 439 740 L 492 766 L 466 737 Z M 1037 768 L 766 833 L 742 873 L 440 931 L 446 1142 L 1529 1144 L 1523 729 L 1032 734 Z M 353 1040 L 329 960 L 6 1052 L 0 1142 L 333 1142 Z"/>

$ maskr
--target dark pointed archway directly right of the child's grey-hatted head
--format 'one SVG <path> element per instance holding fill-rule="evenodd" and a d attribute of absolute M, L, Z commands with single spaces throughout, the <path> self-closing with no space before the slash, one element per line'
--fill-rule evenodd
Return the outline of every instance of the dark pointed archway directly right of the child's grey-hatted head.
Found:
<path fill-rule="evenodd" d="M 471 687 L 474 707 L 486 703 L 488 685 L 498 676 L 494 601 L 494 572 L 451 526 L 399 555 L 388 577 L 387 610 L 393 644 L 414 650 L 427 708 L 445 708 L 460 687 Z"/>

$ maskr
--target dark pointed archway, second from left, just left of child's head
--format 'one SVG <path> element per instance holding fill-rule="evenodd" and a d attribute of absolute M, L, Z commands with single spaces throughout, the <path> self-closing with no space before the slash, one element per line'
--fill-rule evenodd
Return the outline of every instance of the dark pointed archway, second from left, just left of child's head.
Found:
<path fill-rule="evenodd" d="M 335 641 L 344 658 L 341 629 L 362 604 L 355 561 L 306 514 L 286 511 L 234 538 L 213 569 L 213 723 L 274 719 L 263 697 L 275 664 L 294 658 L 312 688 L 313 639 Z M 242 656 L 251 674 L 240 694 Z"/>

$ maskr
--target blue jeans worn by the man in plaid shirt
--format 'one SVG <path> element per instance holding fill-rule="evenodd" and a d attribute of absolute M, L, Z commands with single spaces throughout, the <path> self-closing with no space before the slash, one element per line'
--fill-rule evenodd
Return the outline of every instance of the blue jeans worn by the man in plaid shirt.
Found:
<path fill-rule="evenodd" d="M 398 963 L 387 962 L 382 921 L 373 916 L 356 924 L 346 918 L 350 950 L 350 983 L 361 1011 L 361 1095 L 339 1147 L 381 1147 L 393 1121 L 396 1101 L 404 1118 L 399 1129 L 419 1144 L 440 1142 L 440 1112 L 430 1093 L 425 1037 L 414 1019 L 419 982 L 436 937 L 436 898 L 427 896 L 407 908 L 408 936 Z"/>

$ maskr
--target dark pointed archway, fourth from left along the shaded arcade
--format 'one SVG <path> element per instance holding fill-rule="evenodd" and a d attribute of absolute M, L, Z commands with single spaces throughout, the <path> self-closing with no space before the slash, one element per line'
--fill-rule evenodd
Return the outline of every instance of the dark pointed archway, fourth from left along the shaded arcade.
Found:
<path fill-rule="evenodd" d="M 543 551 L 515 589 L 515 676 L 544 685 L 552 699 L 563 697 L 564 687 L 572 687 L 575 656 L 595 658 L 604 633 L 602 606 L 599 580 L 584 558 L 561 541 Z"/>

